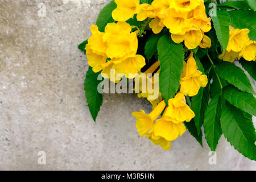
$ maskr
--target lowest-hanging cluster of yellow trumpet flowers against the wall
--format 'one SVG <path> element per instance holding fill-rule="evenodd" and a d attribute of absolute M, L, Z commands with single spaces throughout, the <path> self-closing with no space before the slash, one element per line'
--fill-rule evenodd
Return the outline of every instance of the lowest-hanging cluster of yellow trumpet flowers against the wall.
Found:
<path fill-rule="evenodd" d="M 157 119 L 161 113 L 163 113 L 162 118 Z M 144 136 L 164 150 L 170 150 L 171 141 L 183 135 L 186 130 L 183 122 L 191 121 L 195 113 L 186 104 L 185 96 L 177 93 L 168 101 L 168 107 L 162 101 L 150 114 L 141 110 L 141 112 L 133 112 L 133 116 L 137 119 L 136 127 L 140 137 Z"/>

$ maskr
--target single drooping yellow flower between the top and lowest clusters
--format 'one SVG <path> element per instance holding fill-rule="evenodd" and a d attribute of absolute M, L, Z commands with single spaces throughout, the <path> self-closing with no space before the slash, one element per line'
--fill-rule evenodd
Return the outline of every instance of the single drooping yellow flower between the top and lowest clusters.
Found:
<path fill-rule="evenodd" d="M 183 74 L 180 81 L 180 92 L 185 96 L 193 97 L 199 92 L 200 87 L 205 87 L 208 84 L 208 78 L 206 75 L 202 75 L 202 72 L 197 70 L 196 61 L 191 55 L 184 63 Z"/>

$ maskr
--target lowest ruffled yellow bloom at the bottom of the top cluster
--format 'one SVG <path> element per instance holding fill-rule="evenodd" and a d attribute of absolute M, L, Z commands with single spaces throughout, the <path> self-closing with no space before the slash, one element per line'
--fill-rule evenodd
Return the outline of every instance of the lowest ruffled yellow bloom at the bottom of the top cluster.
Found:
<path fill-rule="evenodd" d="M 195 49 L 199 46 L 201 40 L 203 39 L 202 32 L 199 27 L 193 26 L 193 28 L 189 28 L 189 31 L 186 31 L 185 34 L 172 34 L 172 40 L 179 44 L 185 41 L 185 46 L 188 49 Z"/>

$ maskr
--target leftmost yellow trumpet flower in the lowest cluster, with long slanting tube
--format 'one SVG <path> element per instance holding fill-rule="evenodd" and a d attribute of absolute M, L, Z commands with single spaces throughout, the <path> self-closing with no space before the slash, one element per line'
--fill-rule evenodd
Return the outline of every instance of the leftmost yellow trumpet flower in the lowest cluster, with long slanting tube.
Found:
<path fill-rule="evenodd" d="M 143 110 L 141 112 L 133 112 L 132 115 L 137 119 L 136 127 L 140 137 L 152 133 L 151 130 L 154 127 L 154 122 L 163 112 L 164 107 L 166 107 L 166 104 L 162 101 L 150 114 L 146 114 Z"/>

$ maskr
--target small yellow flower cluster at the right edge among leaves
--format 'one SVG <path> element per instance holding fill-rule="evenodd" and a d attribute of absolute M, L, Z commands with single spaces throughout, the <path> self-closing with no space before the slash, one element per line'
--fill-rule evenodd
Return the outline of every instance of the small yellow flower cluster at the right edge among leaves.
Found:
<path fill-rule="evenodd" d="M 249 32 L 250 30 L 247 28 L 240 30 L 229 26 L 229 44 L 226 51 L 219 58 L 232 63 L 236 57 L 238 59 L 243 57 L 247 61 L 255 61 L 256 41 L 249 38 Z"/>

